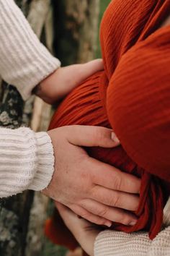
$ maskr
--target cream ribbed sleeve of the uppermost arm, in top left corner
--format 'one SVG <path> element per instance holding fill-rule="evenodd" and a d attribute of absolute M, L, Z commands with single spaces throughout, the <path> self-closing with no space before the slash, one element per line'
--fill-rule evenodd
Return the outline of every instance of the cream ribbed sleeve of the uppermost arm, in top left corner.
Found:
<path fill-rule="evenodd" d="M 0 38 L 1 77 L 26 100 L 61 63 L 40 43 L 13 0 L 0 0 Z"/>

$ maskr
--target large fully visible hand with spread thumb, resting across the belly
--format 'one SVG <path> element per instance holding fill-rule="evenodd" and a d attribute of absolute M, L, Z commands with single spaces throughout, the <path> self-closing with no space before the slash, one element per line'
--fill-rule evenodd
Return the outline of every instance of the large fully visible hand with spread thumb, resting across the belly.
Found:
<path fill-rule="evenodd" d="M 55 171 L 43 193 L 93 223 L 134 225 L 136 218 L 128 210 L 138 208 L 140 179 L 89 157 L 81 148 L 119 145 L 112 130 L 75 125 L 53 129 L 48 135 L 54 148 Z"/>

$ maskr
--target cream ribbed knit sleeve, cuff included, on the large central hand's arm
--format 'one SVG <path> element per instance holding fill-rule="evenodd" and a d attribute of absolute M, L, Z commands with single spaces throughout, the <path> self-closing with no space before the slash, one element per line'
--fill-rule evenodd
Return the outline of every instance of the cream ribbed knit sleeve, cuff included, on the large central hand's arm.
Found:
<path fill-rule="evenodd" d="M 53 146 L 46 132 L 0 128 L 0 197 L 48 186 L 54 171 Z"/>

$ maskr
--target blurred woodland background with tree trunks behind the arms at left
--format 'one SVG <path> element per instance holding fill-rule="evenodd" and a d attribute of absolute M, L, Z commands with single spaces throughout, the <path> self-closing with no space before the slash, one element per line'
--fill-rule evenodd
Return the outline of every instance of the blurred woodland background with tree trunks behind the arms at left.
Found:
<path fill-rule="evenodd" d="M 15 0 L 43 44 L 63 66 L 101 57 L 99 24 L 110 0 Z M 0 125 L 48 129 L 53 108 L 32 96 L 23 102 L 12 85 L 1 81 Z M 53 202 L 40 193 L 0 200 L 1 256 L 65 256 L 67 251 L 48 241 L 45 219 Z"/>

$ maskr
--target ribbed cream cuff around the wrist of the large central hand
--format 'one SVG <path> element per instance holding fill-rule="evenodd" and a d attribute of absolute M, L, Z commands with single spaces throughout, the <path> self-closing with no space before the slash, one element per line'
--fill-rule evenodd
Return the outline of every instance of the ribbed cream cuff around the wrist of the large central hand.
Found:
<path fill-rule="evenodd" d="M 37 170 L 32 184 L 28 189 L 42 190 L 48 187 L 54 171 L 53 145 L 46 132 L 38 132 L 37 139 Z"/>

